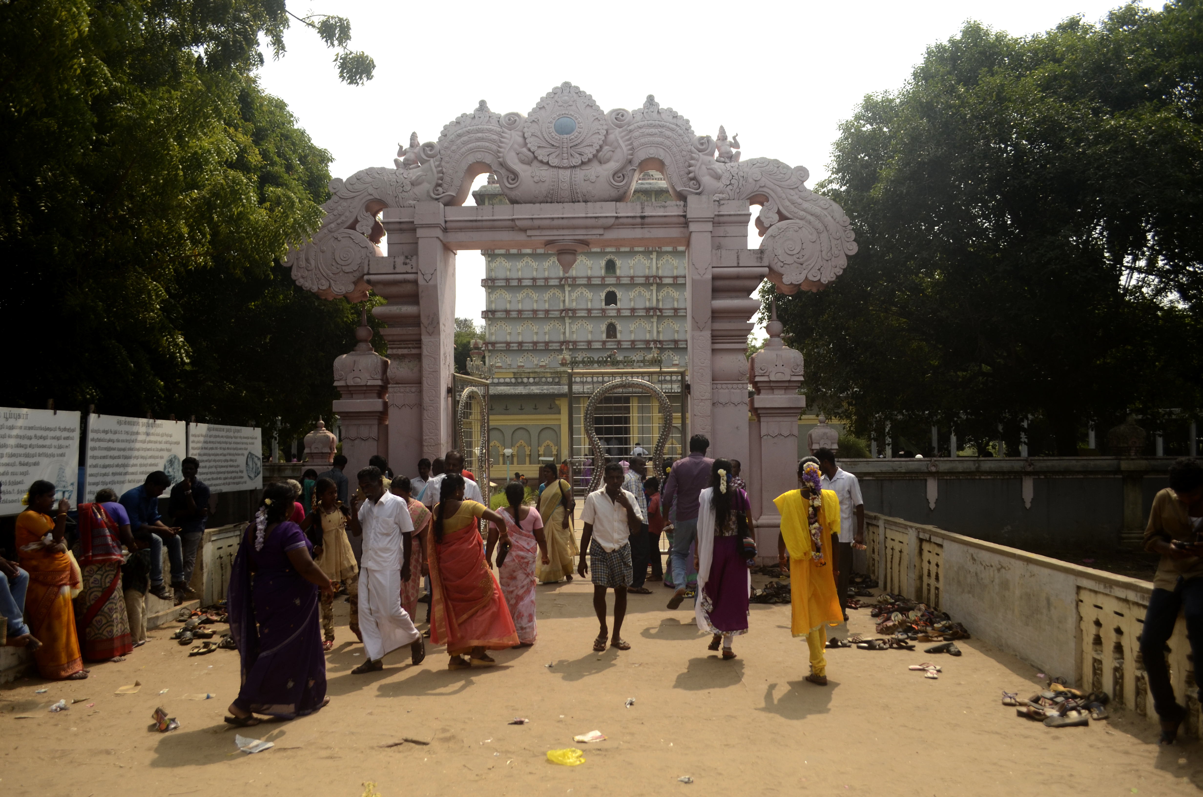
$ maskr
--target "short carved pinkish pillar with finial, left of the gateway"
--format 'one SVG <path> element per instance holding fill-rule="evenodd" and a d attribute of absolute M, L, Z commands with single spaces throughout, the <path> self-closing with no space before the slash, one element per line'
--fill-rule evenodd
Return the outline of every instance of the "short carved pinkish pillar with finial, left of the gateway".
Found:
<path fill-rule="evenodd" d="M 334 412 L 342 419 L 343 455 L 352 482 L 355 472 L 383 449 L 389 368 L 389 360 L 372 350 L 372 327 L 366 315 L 355 330 L 355 338 L 358 341 L 355 349 L 334 360 L 334 386 L 343 396 L 334 402 Z"/>

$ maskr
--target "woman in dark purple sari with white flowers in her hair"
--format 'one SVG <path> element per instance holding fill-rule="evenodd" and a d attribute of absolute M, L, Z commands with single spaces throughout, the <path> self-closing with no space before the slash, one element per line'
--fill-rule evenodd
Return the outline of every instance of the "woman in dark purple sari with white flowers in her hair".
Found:
<path fill-rule="evenodd" d="M 313 543 L 289 521 L 292 489 L 268 484 L 247 526 L 230 574 L 230 634 L 242 659 L 242 689 L 225 718 L 259 725 L 255 714 L 291 720 L 326 706 L 319 592 L 333 592 L 313 561 Z"/>

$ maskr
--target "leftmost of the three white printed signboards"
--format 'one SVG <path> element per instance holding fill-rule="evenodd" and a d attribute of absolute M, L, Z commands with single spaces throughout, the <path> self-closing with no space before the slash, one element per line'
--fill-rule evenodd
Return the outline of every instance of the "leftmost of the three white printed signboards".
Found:
<path fill-rule="evenodd" d="M 78 476 L 79 413 L 0 407 L 0 515 L 24 512 L 20 500 L 37 479 L 75 506 Z"/>

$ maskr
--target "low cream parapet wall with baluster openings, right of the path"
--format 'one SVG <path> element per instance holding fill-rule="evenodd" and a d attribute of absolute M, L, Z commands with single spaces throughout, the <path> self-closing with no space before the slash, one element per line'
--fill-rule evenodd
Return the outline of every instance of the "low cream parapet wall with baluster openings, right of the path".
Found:
<path fill-rule="evenodd" d="M 1137 645 L 1152 584 L 1071 565 L 934 526 L 866 513 L 870 571 L 889 592 L 931 603 L 974 639 L 1049 678 L 1108 692 L 1156 721 Z M 932 589 L 935 588 L 935 589 Z M 1185 621 L 1167 645 L 1177 693 L 1195 689 Z M 1189 702 L 1187 730 L 1203 727 Z"/>

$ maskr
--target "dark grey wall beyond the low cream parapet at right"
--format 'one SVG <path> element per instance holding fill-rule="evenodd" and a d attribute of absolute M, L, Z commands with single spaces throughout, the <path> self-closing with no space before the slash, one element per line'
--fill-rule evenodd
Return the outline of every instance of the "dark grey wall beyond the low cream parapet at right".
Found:
<path fill-rule="evenodd" d="M 1146 518 L 1152 497 L 1168 485 L 1172 461 L 959 457 L 842 460 L 840 466 L 859 478 L 867 512 L 1029 550 L 1112 550 L 1125 526 L 1125 478 L 1140 479 L 1140 516 Z M 1025 476 L 1031 506 L 1024 501 Z M 936 479 L 935 507 L 929 478 Z"/>

